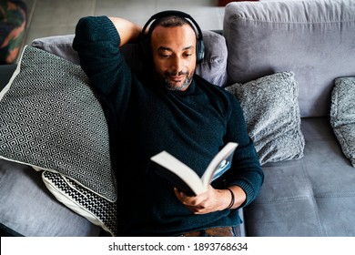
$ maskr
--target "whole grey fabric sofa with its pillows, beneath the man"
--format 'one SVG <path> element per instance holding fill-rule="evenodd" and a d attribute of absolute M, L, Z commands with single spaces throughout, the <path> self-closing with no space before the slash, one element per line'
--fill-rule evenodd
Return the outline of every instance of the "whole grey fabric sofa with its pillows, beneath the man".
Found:
<path fill-rule="evenodd" d="M 355 1 L 230 3 L 225 9 L 223 31 L 203 31 L 203 36 L 206 56 L 197 73 L 238 97 L 265 174 L 259 197 L 239 209 L 242 234 L 354 236 Z M 31 90 L 27 87 L 41 74 L 56 87 L 63 84 L 60 73 L 70 81 L 75 79 L 78 87 L 86 87 L 88 81 L 77 65 L 72 40 L 73 35 L 36 39 L 26 47 L 19 65 L 0 66 L 0 88 L 7 85 L 0 94 L 0 108 L 4 109 L 4 101 L 12 92 L 8 84 Z M 122 51 L 128 64 L 139 71 L 139 46 L 127 45 Z M 22 76 L 25 84 L 18 77 L 25 71 L 18 66 L 27 70 Z M 55 71 L 44 66 L 54 66 Z M 87 89 L 85 93 L 84 100 L 89 97 L 90 106 L 98 104 L 95 95 Z M 51 97 L 57 97 L 54 95 Z M 0 111 L 0 117 L 4 112 Z M 95 118 L 100 117 L 97 114 Z M 105 125 L 96 127 L 106 134 Z M 73 177 L 73 171 L 51 170 L 46 164 L 38 167 L 25 159 L 10 158 L 5 151 L 11 148 L 4 148 L 11 143 L 3 137 L 2 235 L 115 235 L 110 224 L 117 220 L 111 218 L 119 194 L 107 192 L 111 186 L 105 186 L 104 191 L 97 188 L 96 182 L 102 183 L 97 173 L 90 172 L 88 179 L 82 177 L 86 172 L 76 175 L 74 171 Z M 106 176 L 115 187 L 106 160 Z M 87 195 L 89 192 L 93 194 Z M 89 201 L 96 196 L 94 200 L 100 207 L 105 203 L 105 210 L 87 206 L 88 201 L 73 197 L 74 193 L 87 195 Z"/>

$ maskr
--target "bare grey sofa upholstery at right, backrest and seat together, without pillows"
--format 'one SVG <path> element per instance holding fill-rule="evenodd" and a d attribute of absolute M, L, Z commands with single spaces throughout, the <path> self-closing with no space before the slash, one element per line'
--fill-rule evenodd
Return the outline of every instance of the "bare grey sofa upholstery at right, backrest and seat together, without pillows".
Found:
<path fill-rule="evenodd" d="M 303 158 L 263 165 L 247 235 L 355 236 L 355 172 L 330 126 L 334 79 L 355 73 L 355 2 L 238 2 L 224 18 L 228 86 L 292 71 L 305 138 Z"/>

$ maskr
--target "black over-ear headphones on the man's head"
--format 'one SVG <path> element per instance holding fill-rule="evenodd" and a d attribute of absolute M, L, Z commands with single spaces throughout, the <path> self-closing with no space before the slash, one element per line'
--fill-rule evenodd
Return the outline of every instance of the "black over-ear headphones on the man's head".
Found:
<path fill-rule="evenodd" d="M 157 23 L 162 18 L 170 16 L 170 15 L 176 15 L 176 16 L 186 19 L 188 24 L 194 29 L 195 34 L 196 34 L 196 58 L 197 58 L 197 62 L 201 63 L 204 56 L 205 56 L 205 45 L 203 43 L 203 36 L 202 36 L 201 29 L 199 28 L 198 23 L 190 15 L 180 12 L 180 11 L 163 11 L 163 12 L 157 13 L 156 15 L 152 15 L 149 18 L 146 25 L 143 26 L 142 32 L 139 36 L 142 52 L 144 54 L 146 54 L 147 57 L 151 56 L 150 36 L 152 34 L 152 31 L 157 26 Z M 149 26 L 151 23 L 152 23 L 152 25 Z M 148 26 L 149 26 L 149 29 L 146 33 Z"/>

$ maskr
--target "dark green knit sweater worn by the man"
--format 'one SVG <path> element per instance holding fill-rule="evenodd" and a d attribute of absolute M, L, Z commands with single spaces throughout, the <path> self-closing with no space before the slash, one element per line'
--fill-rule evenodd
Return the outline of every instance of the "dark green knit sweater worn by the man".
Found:
<path fill-rule="evenodd" d="M 171 236 L 238 225 L 236 209 L 192 214 L 177 200 L 173 186 L 152 173 L 149 160 L 167 150 L 201 176 L 220 148 L 237 142 L 232 168 L 213 186 L 240 186 L 247 194 L 243 206 L 248 205 L 259 193 L 263 173 L 237 99 L 199 76 L 186 91 L 138 77 L 119 43 L 106 16 L 82 18 L 76 26 L 73 46 L 106 113 L 117 173 L 119 234 Z"/>

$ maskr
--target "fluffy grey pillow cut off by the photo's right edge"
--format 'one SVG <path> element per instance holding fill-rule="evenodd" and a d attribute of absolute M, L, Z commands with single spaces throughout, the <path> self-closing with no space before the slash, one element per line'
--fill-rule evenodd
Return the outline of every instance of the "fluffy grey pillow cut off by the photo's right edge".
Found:
<path fill-rule="evenodd" d="M 355 168 L 355 76 L 335 79 L 330 124 L 344 155 Z"/>

